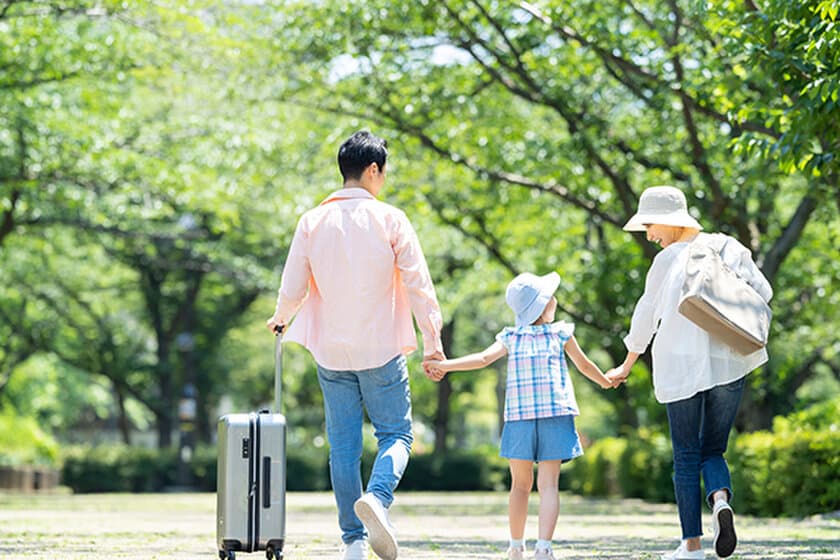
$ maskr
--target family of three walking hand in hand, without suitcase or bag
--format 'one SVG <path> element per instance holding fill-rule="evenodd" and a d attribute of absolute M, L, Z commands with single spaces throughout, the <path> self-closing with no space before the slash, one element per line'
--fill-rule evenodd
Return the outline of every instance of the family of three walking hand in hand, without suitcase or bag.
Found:
<path fill-rule="evenodd" d="M 683 194 L 673 187 L 644 191 L 638 213 L 625 226 L 646 231 L 662 247 L 636 304 L 627 357 L 606 374 L 584 353 L 571 323 L 556 321 L 561 278 L 523 273 L 507 287 L 512 325 L 485 350 L 446 359 L 443 324 L 432 279 L 406 215 L 377 199 L 387 174 L 386 142 L 357 132 L 339 148 L 343 188 L 303 214 L 283 267 L 272 332 L 305 346 L 317 364 L 324 397 L 330 478 L 344 543 L 344 560 L 398 556 L 388 509 L 412 445 L 411 394 L 405 356 L 417 347 L 412 316 L 422 335 L 427 377 L 481 369 L 507 356 L 504 427 L 500 453 L 510 462 L 510 543 L 507 557 L 526 557 L 528 498 L 537 464 L 539 534 L 533 558 L 555 558 L 552 538 L 559 513 L 560 466 L 583 453 L 566 356 L 602 388 L 614 388 L 656 335 L 655 395 L 666 406 L 674 450 L 674 488 L 682 542 L 664 559 L 705 558 L 702 502 L 712 508 L 713 548 L 728 557 L 737 543 L 729 470 L 723 454 L 741 399 L 744 376 L 767 360 L 764 349 L 743 355 L 678 312 L 688 248 L 719 234 L 701 233 Z M 772 290 L 749 251 L 727 238 L 721 257 L 758 294 Z M 294 318 L 294 321 L 292 321 Z M 378 453 L 362 487 L 362 425 L 370 419 Z M 628 551 L 630 552 L 630 551 Z M 529 556 L 531 557 L 531 556 Z"/>

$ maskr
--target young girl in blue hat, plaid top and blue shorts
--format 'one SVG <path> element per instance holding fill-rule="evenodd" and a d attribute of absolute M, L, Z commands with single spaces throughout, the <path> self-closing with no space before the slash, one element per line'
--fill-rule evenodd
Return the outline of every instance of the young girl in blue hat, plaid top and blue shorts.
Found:
<path fill-rule="evenodd" d="M 485 368 L 505 354 L 509 356 L 501 456 L 510 460 L 511 560 L 519 560 L 525 553 L 525 520 L 534 483 L 534 462 L 538 463 L 540 495 L 535 560 L 554 560 L 551 538 L 560 507 L 560 465 L 583 453 L 574 422 L 578 407 L 563 351 L 586 377 L 604 389 L 613 387 L 578 346 L 572 336 L 574 325 L 553 322 L 557 310 L 554 292 L 559 284 L 556 272 L 545 276 L 520 274 L 505 294 L 516 314 L 516 326 L 502 330 L 496 335 L 496 342 L 483 352 L 426 363 L 429 377 L 439 381 L 450 371 Z"/>

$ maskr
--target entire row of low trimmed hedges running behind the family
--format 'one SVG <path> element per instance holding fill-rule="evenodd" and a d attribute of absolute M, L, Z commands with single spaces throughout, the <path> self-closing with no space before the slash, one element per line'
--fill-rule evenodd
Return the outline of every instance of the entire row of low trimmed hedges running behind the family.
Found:
<path fill-rule="evenodd" d="M 840 510 L 840 399 L 785 418 L 773 432 L 734 436 L 727 460 L 737 511 L 766 516 L 803 516 Z M 375 455 L 366 451 L 367 476 Z M 289 448 L 287 488 L 330 488 L 326 449 Z M 216 449 L 200 447 L 190 464 L 198 490 L 216 489 Z M 673 502 L 668 436 L 640 429 L 625 438 L 604 438 L 564 465 L 561 489 L 587 496 L 623 496 Z M 63 483 L 76 492 L 154 492 L 177 478 L 174 450 L 125 446 L 70 448 Z M 494 446 L 446 455 L 413 455 L 401 490 L 496 490 L 510 484 L 507 461 Z"/>

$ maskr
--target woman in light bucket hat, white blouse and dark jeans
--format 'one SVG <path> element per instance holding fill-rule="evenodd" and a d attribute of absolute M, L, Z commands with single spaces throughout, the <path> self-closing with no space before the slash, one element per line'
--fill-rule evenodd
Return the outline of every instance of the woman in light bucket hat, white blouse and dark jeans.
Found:
<path fill-rule="evenodd" d="M 674 187 L 651 187 L 639 199 L 639 211 L 625 231 L 645 231 L 647 239 L 662 246 L 645 280 L 645 292 L 636 304 L 630 333 L 624 338 L 627 357 L 608 373 L 624 380 L 653 343 L 653 385 L 656 399 L 665 404 L 674 451 L 674 490 L 682 527 L 682 542 L 663 560 L 705 558 L 700 543 L 702 502 L 700 476 L 706 501 L 712 508 L 715 553 L 726 558 L 737 544 L 732 508 L 732 482 L 723 453 L 744 391 L 745 376 L 767 361 L 761 349 L 742 355 L 683 317 L 679 305 L 685 278 L 688 247 L 708 243 L 710 234 L 692 218 L 685 196 Z M 750 252 L 728 238 L 724 262 L 756 292 L 770 301 L 773 290 L 755 265 Z"/>

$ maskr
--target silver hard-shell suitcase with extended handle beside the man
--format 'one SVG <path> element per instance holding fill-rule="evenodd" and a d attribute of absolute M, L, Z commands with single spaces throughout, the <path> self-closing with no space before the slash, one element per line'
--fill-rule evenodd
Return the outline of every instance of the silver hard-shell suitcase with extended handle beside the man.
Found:
<path fill-rule="evenodd" d="M 281 414 L 282 340 L 275 340 L 274 408 L 227 414 L 218 423 L 216 540 L 219 558 L 264 550 L 283 558 L 286 534 L 286 418 Z"/>

